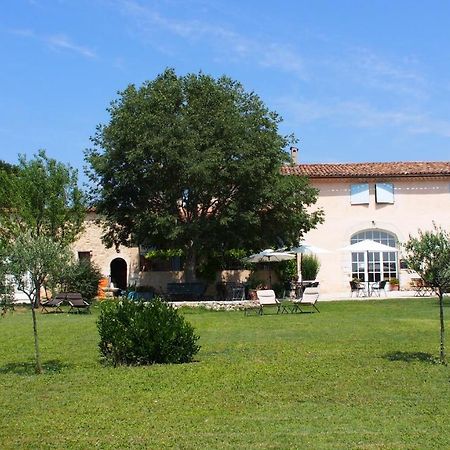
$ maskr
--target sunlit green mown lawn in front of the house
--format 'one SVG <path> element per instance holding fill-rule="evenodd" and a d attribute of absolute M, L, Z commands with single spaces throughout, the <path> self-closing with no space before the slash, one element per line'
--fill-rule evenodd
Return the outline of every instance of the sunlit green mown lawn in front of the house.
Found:
<path fill-rule="evenodd" d="M 98 309 L 39 314 L 41 376 L 17 311 L 0 320 L 0 448 L 450 448 L 437 300 L 319 308 L 187 310 L 196 362 L 116 369 L 99 362 Z"/>

